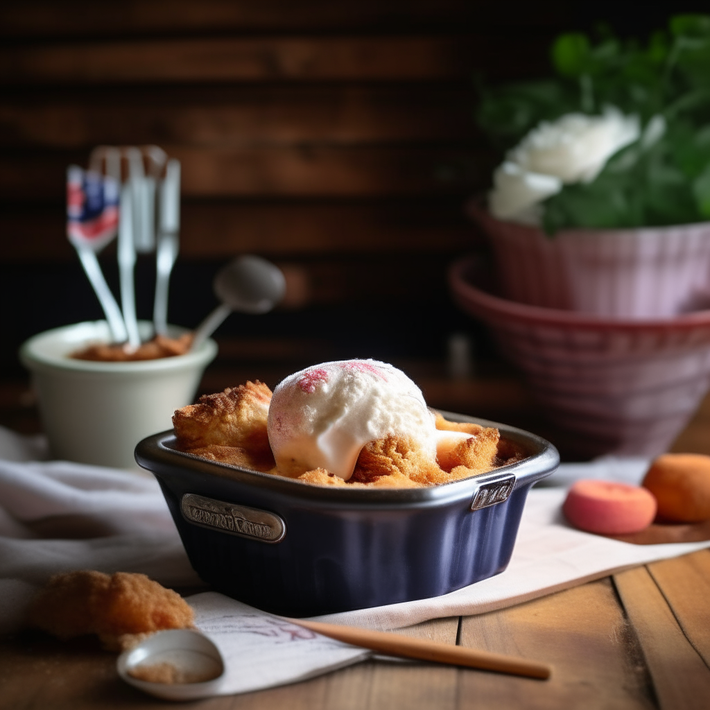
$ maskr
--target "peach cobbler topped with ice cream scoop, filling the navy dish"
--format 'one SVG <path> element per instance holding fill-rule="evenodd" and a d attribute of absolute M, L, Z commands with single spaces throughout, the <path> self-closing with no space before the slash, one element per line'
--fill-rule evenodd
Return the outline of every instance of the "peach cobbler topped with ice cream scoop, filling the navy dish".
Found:
<path fill-rule="evenodd" d="M 310 367 L 273 393 L 256 381 L 204 395 L 173 425 L 183 452 L 320 486 L 433 486 L 525 458 L 497 429 L 432 412 L 374 360 Z"/>

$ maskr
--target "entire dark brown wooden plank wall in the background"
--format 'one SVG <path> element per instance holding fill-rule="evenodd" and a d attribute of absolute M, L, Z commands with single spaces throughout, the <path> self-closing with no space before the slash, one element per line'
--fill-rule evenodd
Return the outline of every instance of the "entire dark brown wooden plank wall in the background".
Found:
<path fill-rule="evenodd" d="M 452 305 L 445 279 L 453 258 L 480 248 L 461 206 L 486 189 L 498 159 L 474 126 L 473 77 L 543 75 L 560 31 L 606 20 L 646 33 L 676 9 L 649 4 L 640 17 L 632 4 L 572 5 L 2 4 L 0 410 L 27 400 L 23 339 L 101 317 L 65 239 L 66 166 L 85 164 L 99 143 L 157 143 L 182 161 L 170 320 L 197 324 L 214 305 L 214 271 L 239 253 L 273 259 L 291 286 L 278 312 L 224 324 L 204 388 L 373 356 L 407 364 L 434 404 L 515 419 L 525 393 Z M 110 247 L 102 259 L 115 283 Z M 142 258 L 144 317 L 152 288 Z M 454 332 L 469 336 L 488 379 L 447 380 Z M 33 426 L 19 414 L 2 422 Z"/>

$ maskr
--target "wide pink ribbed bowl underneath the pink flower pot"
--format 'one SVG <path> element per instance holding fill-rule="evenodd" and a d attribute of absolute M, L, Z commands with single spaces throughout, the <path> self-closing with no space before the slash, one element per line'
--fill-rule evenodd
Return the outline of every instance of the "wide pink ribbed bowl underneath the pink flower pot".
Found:
<path fill-rule="evenodd" d="M 479 258 L 455 263 L 459 305 L 493 329 L 550 420 L 585 454 L 667 450 L 710 386 L 710 310 L 609 320 L 506 300 Z"/>

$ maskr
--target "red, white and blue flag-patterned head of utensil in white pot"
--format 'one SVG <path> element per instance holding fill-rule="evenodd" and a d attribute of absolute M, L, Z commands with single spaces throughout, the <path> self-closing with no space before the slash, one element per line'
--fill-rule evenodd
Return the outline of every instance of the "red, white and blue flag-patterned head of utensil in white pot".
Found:
<path fill-rule="evenodd" d="M 67 236 L 77 248 L 99 251 L 119 229 L 119 185 L 109 175 L 67 169 Z"/>

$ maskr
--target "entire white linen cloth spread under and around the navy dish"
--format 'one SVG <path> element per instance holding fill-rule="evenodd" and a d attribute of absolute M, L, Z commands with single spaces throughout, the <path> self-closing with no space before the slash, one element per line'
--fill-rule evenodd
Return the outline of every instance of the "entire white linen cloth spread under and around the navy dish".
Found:
<path fill-rule="evenodd" d="M 32 460 L 43 450 L 41 439 L 20 437 L 0 427 L 0 633 L 20 628 L 28 600 L 57 572 L 143 572 L 166 586 L 202 584 L 190 567 L 155 479 L 67 461 Z M 565 523 L 560 506 L 565 486 L 572 481 L 598 478 L 638 483 L 647 468 L 645 459 L 563 464 L 546 481 L 556 485 L 530 491 L 513 558 L 502 574 L 432 599 L 318 618 L 363 628 L 401 628 L 431 618 L 512 606 L 621 569 L 709 547 L 710 541 L 630 545 L 574 530 Z M 198 595 L 188 601 L 195 604 L 198 618 L 204 612 L 205 630 L 219 636 L 218 645 L 227 655 L 234 652 L 234 645 L 228 638 L 226 619 L 234 616 L 235 604 L 242 612 L 246 608 L 259 613 L 221 594 Z M 215 618 L 224 620 L 221 630 Z M 322 645 L 317 646 L 322 650 Z M 361 654 L 347 649 L 331 662 L 324 663 L 327 654 L 321 652 L 312 656 L 311 665 L 299 661 L 293 666 L 297 671 L 288 677 L 265 670 L 259 675 L 263 684 L 258 687 L 290 682 L 360 659 Z M 238 686 L 234 680 L 225 687 Z M 249 685 L 249 689 L 256 687 Z"/>

